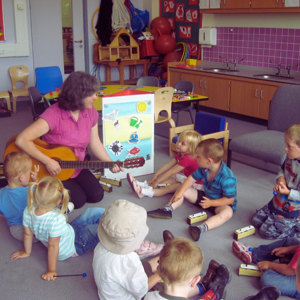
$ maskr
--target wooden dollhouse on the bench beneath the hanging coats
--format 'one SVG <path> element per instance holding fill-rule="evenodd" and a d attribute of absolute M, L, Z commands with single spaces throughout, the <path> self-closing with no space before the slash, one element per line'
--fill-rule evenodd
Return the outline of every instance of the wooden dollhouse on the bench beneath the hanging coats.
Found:
<path fill-rule="evenodd" d="M 132 38 L 125 28 L 113 32 L 111 43 L 107 46 L 99 46 L 99 61 L 116 61 L 140 59 L 139 44 Z"/>

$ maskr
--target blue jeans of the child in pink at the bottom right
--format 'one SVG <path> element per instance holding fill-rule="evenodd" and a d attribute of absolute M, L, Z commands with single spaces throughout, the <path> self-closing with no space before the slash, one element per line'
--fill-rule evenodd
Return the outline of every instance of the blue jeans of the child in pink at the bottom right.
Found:
<path fill-rule="evenodd" d="M 274 248 L 299 245 L 300 241 L 297 238 L 284 238 L 268 245 L 260 245 L 252 250 L 252 260 L 257 263 L 262 260 L 273 261 L 278 259 L 278 256 L 271 253 L 258 252 L 255 250 L 269 251 Z M 264 271 L 260 277 L 262 286 L 275 285 L 279 288 L 281 295 L 300 299 L 300 293 L 296 289 L 296 275 L 283 275 L 273 270 Z"/>

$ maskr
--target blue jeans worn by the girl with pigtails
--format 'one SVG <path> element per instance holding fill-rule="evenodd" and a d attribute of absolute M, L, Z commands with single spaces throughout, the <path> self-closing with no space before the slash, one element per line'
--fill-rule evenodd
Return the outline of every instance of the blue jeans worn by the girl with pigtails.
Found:
<path fill-rule="evenodd" d="M 91 207 L 70 222 L 75 231 L 75 248 L 82 255 L 99 243 L 98 224 L 105 208 Z"/>

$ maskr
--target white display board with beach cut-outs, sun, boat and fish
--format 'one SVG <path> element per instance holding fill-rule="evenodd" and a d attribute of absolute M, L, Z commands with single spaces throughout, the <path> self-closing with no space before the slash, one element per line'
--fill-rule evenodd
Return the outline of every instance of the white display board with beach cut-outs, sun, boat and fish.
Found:
<path fill-rule="evenodd" d="M 102 97 L 103 145 L 113 161 L 143 157 L 141 167 L 113 174 L 104 170 L 104 176 L 124 179 L 154 173 L 154 94 L 124 90 Z"/>

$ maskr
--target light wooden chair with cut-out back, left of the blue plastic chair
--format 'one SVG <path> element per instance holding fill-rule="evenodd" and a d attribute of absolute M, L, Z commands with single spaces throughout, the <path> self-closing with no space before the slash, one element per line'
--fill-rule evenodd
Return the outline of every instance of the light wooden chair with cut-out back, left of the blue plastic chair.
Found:
<path fill-rule="evenodd" d="M 8 91 L 13 101 L 13 112 L 16 113 L 16 102 L 19 96 L 28 96 L 28 76 L 29 70 L 26 66 L 12 66 L 9 68 L 9 75 L 13 89 Z M 16 88 L 16 83 L 22 81 L 24 88 Z"/>

